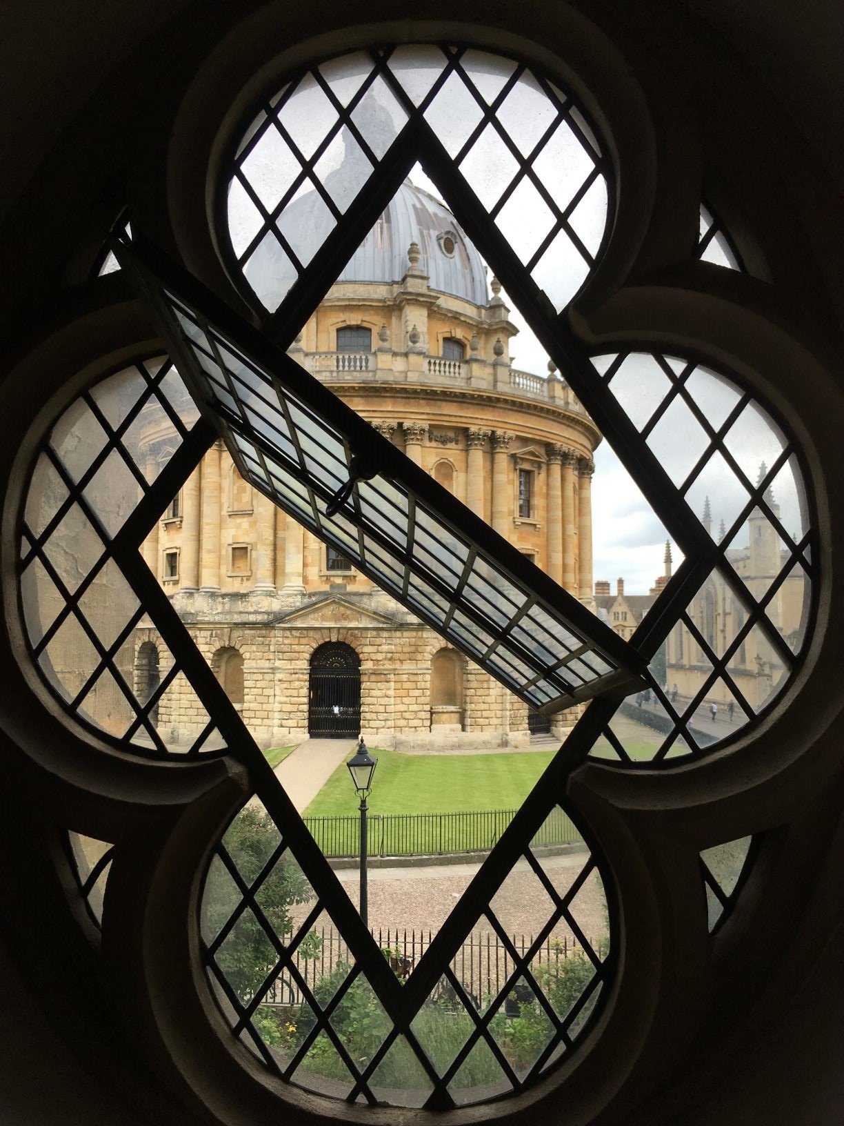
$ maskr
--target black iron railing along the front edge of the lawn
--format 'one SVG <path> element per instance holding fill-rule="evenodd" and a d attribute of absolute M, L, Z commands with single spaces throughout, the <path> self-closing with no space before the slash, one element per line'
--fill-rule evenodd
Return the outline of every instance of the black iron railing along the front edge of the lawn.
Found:
<path fill-rule="evenodd" d="M 486 852 L 501 837 L 515 810 L 474 810 L 464 813 L 370 813 L 367 838 L 370 856 L 442 856 L 447 852 Z M 329 857 L 358 856 L 358 814 L 305 817 L 314 840 Z M 581 834 L 557 807 L 533 837 L 532 847 L 571 844 Z"/>

